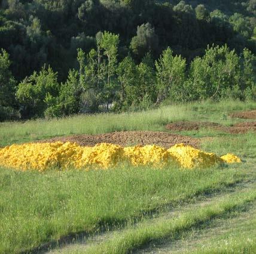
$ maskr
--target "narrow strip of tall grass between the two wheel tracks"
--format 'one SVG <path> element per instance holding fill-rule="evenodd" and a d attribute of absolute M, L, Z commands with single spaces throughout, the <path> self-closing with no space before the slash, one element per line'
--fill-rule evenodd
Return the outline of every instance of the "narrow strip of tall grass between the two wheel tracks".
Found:
<path fill-rule="evenodd" d="M 145 221 L 137 225 L 136 228 L 126 230 L 123 233 L 116 233 L 114 237 L 97 246 L 86 249 L 83 253 L 129 253 L 152 241 L 168 238 L 175 240 L 184 231 L 198 227 L 212 219 L 227 215 L 236 210 L 245 209 L 245 206 L 256 200 L 256 188 L 243 193 L 234 193 L 225 199 L 211 203 L 205 207 L 196 208 L 189 212 L 181 213 L 178 218 L 154 219 Z M 250 249 L 254 248 L 252 244 Z M 218 249 L 211 249 L 212 253 L 217 253 Z M 209 250 L 209 251 L 211 251 Z M 229 249 L 230 251 L 231 249 Z M 221 252 L 222 253 L 222 252 Z"/>

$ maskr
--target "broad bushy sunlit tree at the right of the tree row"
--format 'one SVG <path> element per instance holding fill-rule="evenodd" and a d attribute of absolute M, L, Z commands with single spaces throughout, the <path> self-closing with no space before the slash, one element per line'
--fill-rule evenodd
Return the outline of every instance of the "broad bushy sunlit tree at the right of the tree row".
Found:
<path fill-rule="evenodd" d="M 227 45 L 209 47 L 205 55 L 197 57 L 190 65 L 189 80 L 190 100 L 219 100 L 230 95 L 233 89 L 237 91 L 234 97 L 239 97 L 240 80 L 239 57 L 230 51 Z"/>

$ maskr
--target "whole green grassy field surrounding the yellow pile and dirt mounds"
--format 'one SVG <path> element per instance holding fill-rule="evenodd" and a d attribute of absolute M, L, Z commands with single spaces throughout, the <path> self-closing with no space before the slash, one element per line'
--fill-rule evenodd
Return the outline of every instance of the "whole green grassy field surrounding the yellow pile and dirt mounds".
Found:
<path fill-rule="evenodd" d="M 0 123 L 0 146 L 71 134 L 164 131 L 176 120 L 231 125 L 256 103 L 165 106 L 123 114 Z M 183 132 L 239 165 L 109 171 L 19 172 L 0 168 L 0 253 L 255 253 L 256 135 Z"/>

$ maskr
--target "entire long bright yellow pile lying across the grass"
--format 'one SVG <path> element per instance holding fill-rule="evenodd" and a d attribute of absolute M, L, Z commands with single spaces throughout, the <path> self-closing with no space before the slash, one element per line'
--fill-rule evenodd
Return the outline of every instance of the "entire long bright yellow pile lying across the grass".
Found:
<path fill-rule="evenodd" d="M 206 168 L 220 163 L 240 163 L 239 157 L 227 154 L 218 157 L 214 153 L 177 144 L 168 150 L 156 145 L 137 145 L 123 148 L 114 144 L 97 144 L 95 147 L 81 147 L 77 143 L 30 143 L 0 148 L 0 165 L 26 171 L 48 168 L 108 169 L 118 162 L 132 165 L 164 166 L 177 163 L 182 168 Z"/>

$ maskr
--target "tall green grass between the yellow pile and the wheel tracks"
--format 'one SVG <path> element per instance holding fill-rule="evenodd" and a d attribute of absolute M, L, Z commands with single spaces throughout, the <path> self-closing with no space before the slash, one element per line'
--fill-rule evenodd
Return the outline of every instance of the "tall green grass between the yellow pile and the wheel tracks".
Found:
<path fill-rule="evenodd" d="M 164 206 L 225 191 L 246 174 L 234 168 L 117 168 L 17 172 L 0 169 L 0 253 L 31 250 L 102 225 L 123 227 Z"/>

